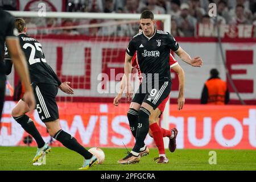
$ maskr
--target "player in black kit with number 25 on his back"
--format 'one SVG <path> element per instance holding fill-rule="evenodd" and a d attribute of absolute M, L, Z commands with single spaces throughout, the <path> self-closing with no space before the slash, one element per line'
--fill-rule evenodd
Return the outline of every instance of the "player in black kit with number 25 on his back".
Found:
<path fill-rule="evenodd" d="M 47 64 L 42 45 L 36 39 L 26 35 L 27 28 L 24 20 L 22 18 L 16 18 L 15 26 L 19 32 L 20 46 L 27 59 L 32 82 L 31 85 L 34 88 L 36 98 L 36 109 L 40 119 L 46 125 L 51 137 L 58 140 L 63 146 L 76 151 L 84 157 L 84 164 L 79 169 L 92 167 L 94 164 L 98 163 L 96 156 L 82 147 L 74 137 L 61 130 L 60 127 L 56 95 L 58 87 L 67 94 L 73 94 L 72 88 L 68 85 L 69 82 L 61 82 L 56 73 L 53 72 L 52 68 Z M 7 68 L 11 69 L 11 61 L 8 57 L 8 52 L 6 52 L 5 63 Z M 10 70 L 7 72 L 10 72 Z M 35 163 L 43 154 L 48 154 L 48 152 L 51 151 L 51 147 L 44 142 L 32 119 L 26 115 L 27 111 L 28 106 L 26 102 L 21 99 L 18 104 L 16 104 L 11 114 L 15 121 L 18 122 L 27 133 L 32 135 L 38 144 L 38 151 L 33 159 Z"/>

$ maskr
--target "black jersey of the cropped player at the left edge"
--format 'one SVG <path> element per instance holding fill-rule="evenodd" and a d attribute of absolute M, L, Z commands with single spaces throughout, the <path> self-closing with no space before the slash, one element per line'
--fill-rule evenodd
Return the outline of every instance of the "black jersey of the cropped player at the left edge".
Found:
<path fill-rule="evenodd" d="M 5 67 L 3 64 L 3 58 L 5 55 L 5 40 L 7 37 L 14 35 L 14 17 L 6 11 L 0 10 L 0 75 L 5 75 Z"/>

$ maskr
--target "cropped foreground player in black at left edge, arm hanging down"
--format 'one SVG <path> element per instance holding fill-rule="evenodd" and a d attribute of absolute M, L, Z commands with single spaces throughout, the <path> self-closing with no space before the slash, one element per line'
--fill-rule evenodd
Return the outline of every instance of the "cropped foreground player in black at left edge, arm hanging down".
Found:
<path fill-rule="evenodd" d="M 4 47 L 5 42 L 9 48 L 11 58 L 13 59 L 14 66 L 18 72 L 20 78 L 22 79 L 26 92 L 24 93 L 24 102 L 28 105 L 28 110 L 33 110 L 35 108 L 35 97 L 30 86 L 30 77 L 28 75 L 28 68 L 26 60 L 22 50 L 20 49 L 19 39 L 14 35 L 16 31 L 14 25 L 14 17 L 0 9 L 0 122 L 2 116 L 3 102 L 5 99 L 5 65 L 3 62 L 4 58 Z M 1 129 L 1 123 L 0 123 Z"/>

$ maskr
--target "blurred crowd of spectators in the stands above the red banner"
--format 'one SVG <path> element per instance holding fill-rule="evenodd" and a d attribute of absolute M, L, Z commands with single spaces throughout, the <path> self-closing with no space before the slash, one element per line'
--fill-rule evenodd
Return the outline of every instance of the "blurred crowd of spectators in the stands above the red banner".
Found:
<path fill-rule="evenodd" d="M 172 15 L 171 33 L 174 36 L 195 36 L 198 23 L 254 24 L 256 26 L 256 0 L 67 0 L 66 3 L 66 11 L 68 12 L 142 13 L 143 10 L 151 10 L 154 14 L 170 14 Z M 209 3 L 216 3 L 217 19 L 208 15 Z M 44 23 L 41 22 L 41 26 L 50 29 L 55 26 L 101 24 L 104 21 L 99 19 L 65 19 L 59 22 L 57 19 L 48 19 Z M 31 23 L 32 27 L 35 27 L 35 22 L 29 19 L 28 22 Z M 41 32 L 46 34 L 59 32 L 69 35 L 131 36 L 138 31 L 138 23 L 117 25 L 115 22 L 117 21 L 108 21 L 110 25 L 113 23 L 113 26 L 92 26 L 89 28 L 68 28 L 61 30 L 61 32 L 58 30 Z M 40 24 L 38 25 L 37 22 L 36 26 L 40 27 Z M 163 24 L 159 24 L 159 26 L 158 28 L 161 28 Z"/>

